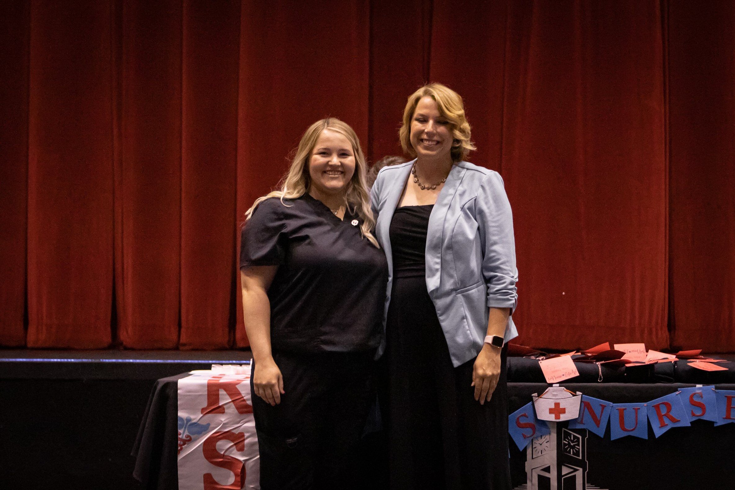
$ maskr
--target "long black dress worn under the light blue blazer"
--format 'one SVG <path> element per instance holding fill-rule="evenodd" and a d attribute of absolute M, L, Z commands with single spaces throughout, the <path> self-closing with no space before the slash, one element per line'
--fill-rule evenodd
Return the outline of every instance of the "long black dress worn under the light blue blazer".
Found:
<path fill-rule="evenodd" d="M 474 399 L 474 359 L 453 367 L 426 290 L 432 205 L 402 206 L 390 223 L 393 286 L 381 383 L 392 490 L 510 489 L 506 350 L 489 403 Z"/>

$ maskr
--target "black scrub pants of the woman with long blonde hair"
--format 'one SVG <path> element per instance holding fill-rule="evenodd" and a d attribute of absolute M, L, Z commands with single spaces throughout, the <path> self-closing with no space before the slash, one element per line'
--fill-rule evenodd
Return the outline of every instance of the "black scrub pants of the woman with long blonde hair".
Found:
<path fill-rule="evenodd" d="M 273 353 L 283 375 L 281 403 L 252 398 L 262 490 L 354 486 L 359 475 L 345 469 L 375 397 L 373 356 Z"/>

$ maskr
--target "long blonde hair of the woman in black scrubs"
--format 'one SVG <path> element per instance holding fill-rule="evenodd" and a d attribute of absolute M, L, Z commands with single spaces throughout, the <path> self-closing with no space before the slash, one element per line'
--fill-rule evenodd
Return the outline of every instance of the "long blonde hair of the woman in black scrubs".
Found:
<path fill-rule="evenodd" d="M 365 154 L 362 153 L 360 140 L 355 131 L 348 123 L 337 118 L 320 119 L 309 126 L 309 129 L 306 129 L 304 136 L 301 137 L 301 141 L 298 143 L 291 166 L 281 181 L 280 189 L 257 198 L 253 206 L 245 212 L 245 220 L 249 220 L 258 204 L 268 198 L 279 198 L 284 206 L 288 206 L 283 202 L 284 199 L 300 198 L 306 192 L 309 192 L 309 185 L 311 185 L 309 159 L 311 159 L 317 140 L 325 129 L 342 134 L 352 145 L 352 153 L 355 156 L 355 172 L 352 174 L 352 179 L 348 182 L 345 190 L 345 206 L 352 214 L 362 218 L 362 226 L 360 226 L 362 237 L 367 238 L 370 243 L 380 248 L 378 240 L 373 237 L 371 231 L 375 226 L 375 218 L 370 210 L 370 192 L 368 192 L 366 178 L 368 165 L 365 163 Z"/>

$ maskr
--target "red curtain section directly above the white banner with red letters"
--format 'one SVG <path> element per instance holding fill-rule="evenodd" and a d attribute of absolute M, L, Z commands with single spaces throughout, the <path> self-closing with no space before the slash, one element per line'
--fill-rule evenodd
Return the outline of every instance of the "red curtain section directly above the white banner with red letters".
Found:
<path fill-rule="evenodd" d="M 236 270 L 240 2 L 184 0 L 183 39 L 179 345 L 225 348 Z"/>

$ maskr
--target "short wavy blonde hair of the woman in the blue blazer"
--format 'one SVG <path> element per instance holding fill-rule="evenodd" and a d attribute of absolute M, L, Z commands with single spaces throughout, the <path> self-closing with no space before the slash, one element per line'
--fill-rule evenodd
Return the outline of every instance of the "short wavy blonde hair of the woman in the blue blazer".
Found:
<path fill-rule="evenodd" d="M 462 103 L 462 97 L 459 96 L 459 93 L 440 83 L 426 84 L 409 96 L 406 109 L 404 109 L 403 125 L 398 130 L 401 147 L 404 148 L 406 154 L 416 156 L 416 150 L 411 144 L 411 121 L 418 101 L 426 96 L 434 99 L 439 108 L 439 113 L 449 121 L 449 129 L 454 138 L 451 150 L 452 162 L 461 162 L 470 151 L 476 149 L 470 140 L 470 123 L 467 122 L 465 117 L 465 104 Z"/>

